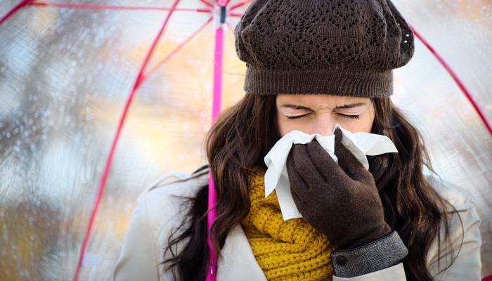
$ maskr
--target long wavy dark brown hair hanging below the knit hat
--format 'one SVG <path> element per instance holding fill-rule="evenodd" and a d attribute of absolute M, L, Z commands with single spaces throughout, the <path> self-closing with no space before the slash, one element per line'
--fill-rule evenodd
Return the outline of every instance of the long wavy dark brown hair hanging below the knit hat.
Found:
<path fill-rule="evenodd" d="M 266 168 L 264 156 L 280 139 L 275 100 L 273 95 L 246 95 L 226 110 L 209 131 L 207 156 L 217 192 L 217 216 L 210 235 L 219 262 L 229 231 L 250 211 L 247 175 L 257 167 Z M 388 136 L 399 150 L 398 154 L 369 159 L 385 219 L 408 247 L 408 256 L 403 259 L 407 279 L 432 280 L 426 255 L 434 239 L 440 239 L 441 226 L 448 225 L 447 203 L 422 174 L 424 166 L 431 168 L 417 130 L 389 98 L 374 99 L 373 105 L 372 132 Z M 176 280 L 205 280 L 209 259 L 207 186 L 183 206 L 188 216 L 169 237 L 167 251 L 171 257 L 164 263 Z M 179 243 L 183 244 L 181 251 L 173 251 Z"/>

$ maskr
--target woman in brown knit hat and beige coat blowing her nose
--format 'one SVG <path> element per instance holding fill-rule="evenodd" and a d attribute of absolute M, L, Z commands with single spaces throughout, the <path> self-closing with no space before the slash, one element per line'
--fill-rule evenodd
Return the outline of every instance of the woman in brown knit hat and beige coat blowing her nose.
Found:
<path fill-rule="evenodd" d="M 419 133 L 391 103 L 391 70 L 413 34 L 390 1 L 257 0 L 235 30 L 247 95 L 207 140 L 217 192 L 217 280 L 479 280 L 479 218 L 470 195 L 424 176 Z M 335 131 L 338 164 L 316 141 L 287 158 L 302 218 L 264 197 L 264 157 L 292 130 L 335 124 L 376 133 L 398 153 L 367 171 Z M 115 280 L 205 280 L 203 168 L 138 199 Z"/>

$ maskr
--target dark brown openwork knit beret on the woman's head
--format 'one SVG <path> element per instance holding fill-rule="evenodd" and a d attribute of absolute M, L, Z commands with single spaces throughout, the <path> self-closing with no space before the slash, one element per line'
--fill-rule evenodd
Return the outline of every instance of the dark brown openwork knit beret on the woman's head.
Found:
<path fill-rule="evenodd" d="M 255 0 L 235 28 L 245 91 L 381 98 L 413 55 L 389 0 Z"/>

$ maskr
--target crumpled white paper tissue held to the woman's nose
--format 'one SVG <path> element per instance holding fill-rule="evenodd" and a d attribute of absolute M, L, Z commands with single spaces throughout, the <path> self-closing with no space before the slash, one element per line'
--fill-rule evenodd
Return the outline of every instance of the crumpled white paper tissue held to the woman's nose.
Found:
<path fill-rule="evenodd" d="M 366 155 L 381 155 L 389 152 L 398 152 L 393 142 L 387 137 L 375 133 L 351 133 L 342 129 L 338 124 L 335 129 L 341 129 L 343 133 L 342 144 L 352 152 L 355 157 L 363 164 L 365 169 L 369 169 Z M 317 133 L 309 135 L 302 131 L 291 131 L 273 145 L 273 148 L 265 156 L 265 164 L 268 167 L 265 173 L 265 197 L 276 190 L 278 203 L 284 221 L 290 218 L 301 218 L 301 214 L 290 195 L 290 183 L 287 176 L 286 160 L 292 144 L 306 144 L 316 138 L 328 154 L 338 163 L 335 155 L 335 135 L 321 136 Z"/>

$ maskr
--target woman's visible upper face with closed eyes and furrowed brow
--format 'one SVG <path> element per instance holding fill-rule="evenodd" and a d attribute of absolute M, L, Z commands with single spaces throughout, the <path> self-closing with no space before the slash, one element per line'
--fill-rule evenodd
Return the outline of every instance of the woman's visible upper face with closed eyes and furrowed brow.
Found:
<path fill-rule="evenodd" d="M 370 98 L 278 94 L 276 109 L 280 136 L 292 130 L 330 136 L 336 124 L 351 133 L 370 133 L 374 121 Z"/>

